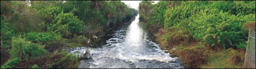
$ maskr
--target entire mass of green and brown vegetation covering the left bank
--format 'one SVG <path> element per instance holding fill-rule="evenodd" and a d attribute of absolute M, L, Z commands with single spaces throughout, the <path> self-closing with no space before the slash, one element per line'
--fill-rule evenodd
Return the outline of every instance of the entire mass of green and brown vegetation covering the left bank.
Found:
<path fill-rule="evenodd" d="M 63 49 L 137 13 L 122 1 L 1 0 L 1 68 L 77 68 L 80 58 Z"/>

